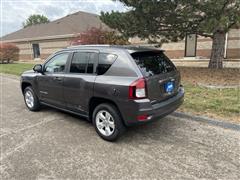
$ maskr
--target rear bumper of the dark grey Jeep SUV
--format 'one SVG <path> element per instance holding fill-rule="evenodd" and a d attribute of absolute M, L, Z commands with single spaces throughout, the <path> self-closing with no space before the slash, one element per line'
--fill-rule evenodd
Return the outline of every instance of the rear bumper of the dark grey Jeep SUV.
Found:
<path fill-rule="evenodd" d="M 152 105 L 148 99 L 135 100 L 133 103 L 131 103 L 131 110 L 129 109 L 126 111 L 126 113 L 122 113 L 125 114 L 123 119 L 127 126 L 151 122 L 172 113 L 183 103 L 183 101 L 183 87 L 179 88 L 178 93 L 175 96 L 154 105 Z M 137 120 L 139 115 L 147 115 L 148 119 L 139 121 Z"/>

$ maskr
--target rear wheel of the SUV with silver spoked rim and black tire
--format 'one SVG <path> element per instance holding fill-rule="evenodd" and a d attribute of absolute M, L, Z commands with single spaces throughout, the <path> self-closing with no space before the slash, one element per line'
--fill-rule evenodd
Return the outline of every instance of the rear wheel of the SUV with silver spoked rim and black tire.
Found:
<path fill-rule="evenodd" d="M 105 116 L 105 120 L 101 115 Z M 93 125 L 98 135 L 107 141 L 117 140 L 126 130 L 118 109 L 111 104 L 105 103 L 98 105 L 94 109 Z"/>

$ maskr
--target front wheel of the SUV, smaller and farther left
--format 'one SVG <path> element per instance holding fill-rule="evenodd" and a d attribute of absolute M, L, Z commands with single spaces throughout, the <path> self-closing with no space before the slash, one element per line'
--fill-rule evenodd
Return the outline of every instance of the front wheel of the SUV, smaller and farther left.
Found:
<path fill-rule="evenodd" d="M 24 89 L 24 102 L 30 111 L 40 110 L 40 102 L 31 86 Z"/>

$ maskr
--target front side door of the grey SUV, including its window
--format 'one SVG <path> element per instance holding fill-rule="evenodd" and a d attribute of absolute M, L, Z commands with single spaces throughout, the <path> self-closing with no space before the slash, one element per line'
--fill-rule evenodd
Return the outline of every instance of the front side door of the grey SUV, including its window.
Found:
<path fill-rule="evenodd" d="M 38 76 L 40 99 L 48 104 L 64 107 L 63 80 L 69 52 L 55 55 L 44 64 L 43 74 Z"/>

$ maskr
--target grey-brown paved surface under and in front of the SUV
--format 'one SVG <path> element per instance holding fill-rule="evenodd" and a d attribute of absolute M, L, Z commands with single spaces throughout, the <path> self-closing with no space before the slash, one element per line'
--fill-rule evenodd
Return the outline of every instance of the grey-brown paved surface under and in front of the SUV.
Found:
<path fill-rule="evenodd" d="M 240 179 L 237 130 L 167 116 L 110 143 L 80 117 L 28 111 L 0 78 L 0 179 Z"/>

